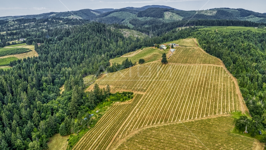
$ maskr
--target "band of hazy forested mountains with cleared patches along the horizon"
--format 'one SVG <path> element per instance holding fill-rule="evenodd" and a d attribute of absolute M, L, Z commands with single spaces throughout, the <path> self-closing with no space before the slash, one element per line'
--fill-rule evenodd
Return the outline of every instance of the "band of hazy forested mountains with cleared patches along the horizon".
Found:
<path fill-rule="evenodd" d="M 140 8 L 126 7 L 121 9 L 81 9 L 71 12 L 49 12 L 37 15 L 7 16 L 0 20 L 12 20 L 17 18 L 69 18 L 84 19 L 103 23 L 119 23 L 131 27 L 136 24 L 149 26 L 151 22 L 174 22 L 180 20 L 198 19 L 227 19 L 251 22 L 266 22 L 266 13 L 253 12 L 245 9 L 213 8 L 208 10 L 184 11 L 163 5 L 147 5 Z"/>

